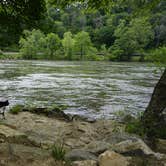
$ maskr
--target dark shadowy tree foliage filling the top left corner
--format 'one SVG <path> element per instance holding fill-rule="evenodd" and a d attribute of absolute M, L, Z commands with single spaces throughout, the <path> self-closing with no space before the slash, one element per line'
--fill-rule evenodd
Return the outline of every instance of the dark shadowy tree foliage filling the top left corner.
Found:
<path fill-rule="evenodd" d="M 18 42 L 22 30 L 37 26 L 44 12 L 45 0 L 1 0 L 0 45 Z"/>

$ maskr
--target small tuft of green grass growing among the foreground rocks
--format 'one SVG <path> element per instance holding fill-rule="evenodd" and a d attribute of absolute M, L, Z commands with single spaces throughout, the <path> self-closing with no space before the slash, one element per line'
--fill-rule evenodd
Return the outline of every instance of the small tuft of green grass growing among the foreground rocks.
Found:
<path fill-rule="evenodd" d="M 53 157 L 55 160 L 64 161 L 64 160 L 65 160 L 66 151 L 65 151 L 65 149 L 64 149 L 63 144 L 60 144 L 60 145 L 55 145 L 55 144 L 54 144 L 54 145 L 52 146 L 51 154 L 52 154 L 52 157 Z"/>

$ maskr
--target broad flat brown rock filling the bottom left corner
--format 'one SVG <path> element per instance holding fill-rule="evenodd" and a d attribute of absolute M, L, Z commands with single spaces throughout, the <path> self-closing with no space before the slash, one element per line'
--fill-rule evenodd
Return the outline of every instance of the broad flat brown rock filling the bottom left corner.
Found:
<path fill-rule="evenodd" d="M 54 159 L 49 151 L 20 144 L 0 144 L 0 165 L 4 166 L 52 166 Z"/>

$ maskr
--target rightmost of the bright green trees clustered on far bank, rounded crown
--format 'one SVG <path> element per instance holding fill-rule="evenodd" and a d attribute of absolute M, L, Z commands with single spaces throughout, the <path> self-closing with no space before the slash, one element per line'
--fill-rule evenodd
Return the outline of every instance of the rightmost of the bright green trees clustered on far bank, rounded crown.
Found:
<path fill-rule="evenodd" d="M 75 35 L 74 39 L 75 49 L 80 53 L 80 59 L 82 60 L 92 47 L 90 36 L 88 32 L 81 31 Z"/>

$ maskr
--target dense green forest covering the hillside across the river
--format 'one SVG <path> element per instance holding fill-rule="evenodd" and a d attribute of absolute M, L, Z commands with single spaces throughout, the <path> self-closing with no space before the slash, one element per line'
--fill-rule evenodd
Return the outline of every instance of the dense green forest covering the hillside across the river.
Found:
<path fill-rule="evenodd" d="M 8 5 L 2 2 L 0 10 L 2 59 L 153 61 L 166 54 L 164 0 L 148 12 L 139 2 L 122 1 L 105 10 L 79 2 L 62 7 L 41 0 L 38 11 L 28 17 Z M 25 4 L 16 5 L 19 9 Z"/>

